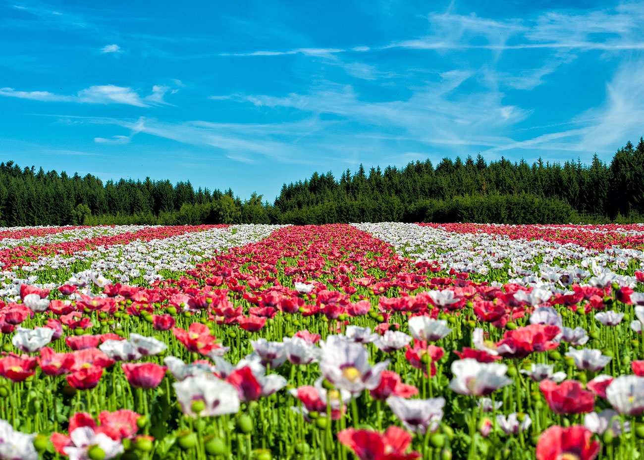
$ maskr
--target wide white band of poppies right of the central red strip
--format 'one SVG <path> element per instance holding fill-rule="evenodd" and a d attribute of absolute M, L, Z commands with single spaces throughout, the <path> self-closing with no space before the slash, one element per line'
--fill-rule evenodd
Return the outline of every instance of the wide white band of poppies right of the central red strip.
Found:
<path fill-rule="evenodd" d="M 392 244 L 397 252 L 417 261 L 437 261 L 448 270 L 453 268 L 480 275 L 496 275 L 503 271 L 507 272 L 507 282 L 542 287 L 556 293 L 564 293 L 571 284 L 604 287 L 616 282 L 620 286 L 633 287 L 636 279 L 618 271 L 631 264 L 637 268 L 644 266 L 644 252 L 634 249 L 610 247 L 600 252 L 573 243 L 510 239 L 484 232 L 454 233 L 409 223 L 354 226 Z"/>

